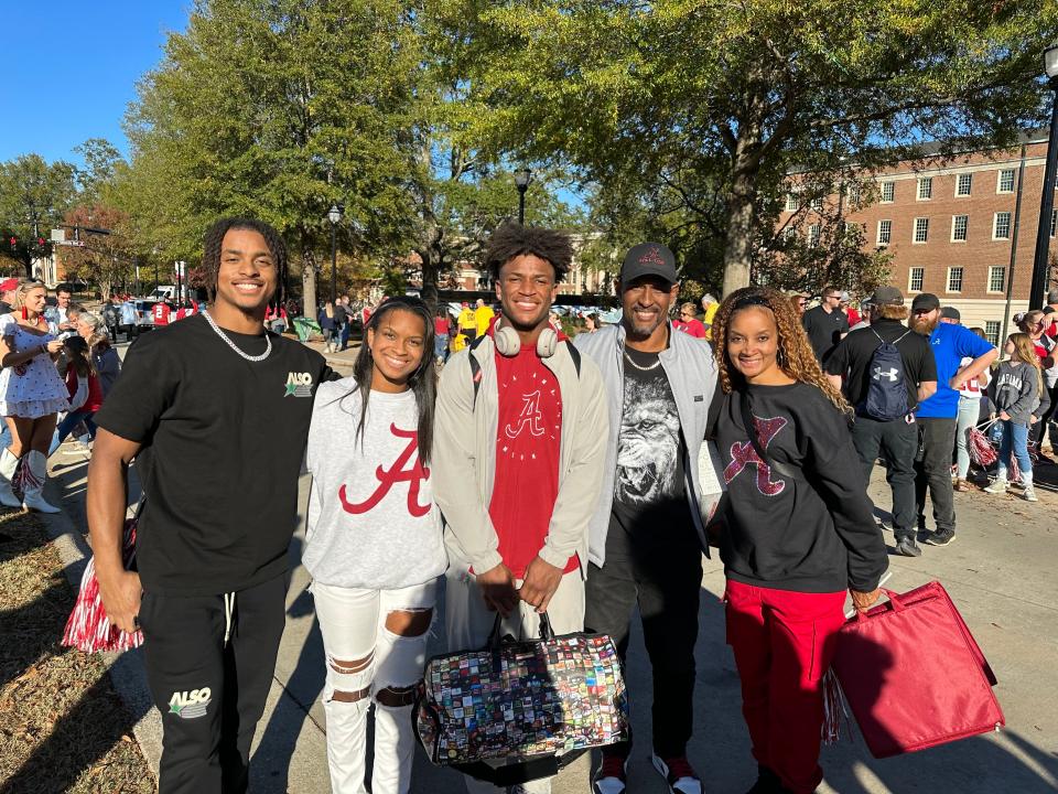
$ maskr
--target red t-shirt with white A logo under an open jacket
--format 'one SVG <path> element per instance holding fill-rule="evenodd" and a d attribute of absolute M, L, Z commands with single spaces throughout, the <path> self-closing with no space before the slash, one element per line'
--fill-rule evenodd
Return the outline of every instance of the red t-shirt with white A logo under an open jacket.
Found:
<path fill-rule="evenodd" d="M 488 515 L 499 537 L 499 556 L 516 578 L 543 548 L 559 495 L 562 395 L 554 373 L 522 345 L 514 357 L 496 353 L 499 421 L 496 473 Z M 565 572 L 576 570 L 574 554 Z"/>

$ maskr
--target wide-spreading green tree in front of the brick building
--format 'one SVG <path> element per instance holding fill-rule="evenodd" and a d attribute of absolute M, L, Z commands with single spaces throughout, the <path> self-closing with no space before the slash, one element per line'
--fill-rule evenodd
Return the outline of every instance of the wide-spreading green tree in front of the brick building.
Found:
<path fill-rule="evenodd" d="M 1040 120 L 1047 0 L 462 3 L 493 140 L 622 192 L 723 196 L 723 289 L 749 282 L 787 172 L 915 144 L 1003 144 Z M 473 20 L 472 22 L 465 20 Z M 708 224 L 703 224 L 703 228 Z"/>

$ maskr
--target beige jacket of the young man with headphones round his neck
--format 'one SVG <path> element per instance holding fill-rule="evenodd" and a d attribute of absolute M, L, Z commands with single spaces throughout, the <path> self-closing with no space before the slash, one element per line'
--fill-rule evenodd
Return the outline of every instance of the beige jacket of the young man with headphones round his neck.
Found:
<path fill-rule="evenodd" d="M 449 555 L 468 562 L 477 573 L 503 561 L 497 550 L 499 538 L 488 515 L 499 423 L 495 350 L 492 336 L 486 336 L 453 355 L 444 365 L 438 387 L 431 464 L 433 497 L 444 516 Z M 471 356 L 481 367 L 476 398 Z M 546 562 L 564 568 L 575 551 L 584 577 L 589 523 L 606 471 L 603 465 L 609 430 L 606 398 L 598 367 L 582 356 L 577 374 L 573 353 L 564 342 L 559 343 L 554 355 L 541 362 L 559 382 L 562 434 L 559 495 L 539 556 Z"/>

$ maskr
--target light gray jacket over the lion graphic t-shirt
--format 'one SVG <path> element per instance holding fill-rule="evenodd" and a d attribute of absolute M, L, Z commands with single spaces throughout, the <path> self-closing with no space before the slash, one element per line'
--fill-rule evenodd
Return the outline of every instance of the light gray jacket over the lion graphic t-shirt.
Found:
<path fill-rule="evenodd" d="M 609 325 L 595 333 L 580 334 L 574 341 L 577 350 L 587 354 L 603 373 L 606 385 L 606 398 L 609 403 L 609 438 L 606 442 L 606 479 L 600 494 L 595 515 L 592 518 L 589 559 L 602 567 L 606 561 L 606 533 L 609 528 L 609 513 L 614 503 L 614 486 L 617 479 L 617 441 L 620 434 L 620 417 L 625 394 L 625 328 Z M 705 438 L 705 425 L 709 418 L 709 404 L 716 390 L 716 364 L 713 348 L 704 340 L 680 333 L 669 323 L 669 346 L 658 355 L 661 368 L 669 379 L 669 387 L 676 399 L 676 410 L 680 415 L 680 431 L 687 447 L 687 460 L 683 461 L 687 501 L 691 511 L 691 521 L 698 532 L 702 549 L 709 556 L 705 538 L 705 522 L 702 515 L 704 501 L 699 480 L 699 457 Z"/>

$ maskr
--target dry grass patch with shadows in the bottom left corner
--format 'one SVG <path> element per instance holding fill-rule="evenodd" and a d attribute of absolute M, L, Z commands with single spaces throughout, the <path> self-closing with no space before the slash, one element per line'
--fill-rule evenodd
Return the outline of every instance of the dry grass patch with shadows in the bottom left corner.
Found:
<path fill-rule="evenodd" d="M 74 592 L 37 519 L 0 514 L 0 792 L 153 792 L 106 662 L 60 645 Z"/>

